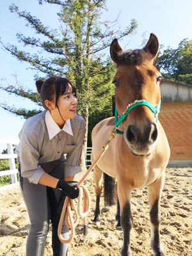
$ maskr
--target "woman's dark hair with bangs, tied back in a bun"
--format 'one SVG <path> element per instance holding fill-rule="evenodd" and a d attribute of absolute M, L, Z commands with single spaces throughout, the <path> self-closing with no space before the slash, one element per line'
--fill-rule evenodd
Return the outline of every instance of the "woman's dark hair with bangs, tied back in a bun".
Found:
<path fill-rule="evenodd" d="M 54 101 L 55 106 L 58 107 L 58 99 L 60 95 L 63 95 L 68 90 L 68 84 L 72 86 L 72 93 L 76 94 L 76 87 L 67 78 L 53 76 L 47 80 L 37 80 L 36 88 L 37 92 L 40 93 L 42 98 L 42 104 L 45 109 L 45 100 Z"/>

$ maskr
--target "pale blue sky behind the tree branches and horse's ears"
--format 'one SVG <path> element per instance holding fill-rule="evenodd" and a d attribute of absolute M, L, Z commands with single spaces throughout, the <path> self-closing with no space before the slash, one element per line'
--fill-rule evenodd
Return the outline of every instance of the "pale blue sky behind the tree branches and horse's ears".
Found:
<path fill-rule="evenodd" d="M 17 45 L 19 49 L 26 50 L 22 44 L 17 41 L 17 33 L 23 33 L 25 36 L 34 36 L 33 30 L 26 26 L 24 19 L 20 19 L 15 13 L 9 10 L 10 4 L 15 3 L 21 11 L 31 12 L 31 15 L 40 19 L 43 24 L 51 28 L 58 28 L 58 19 L 56 13 L 59 11 L 53 4 L 43 4 L 40 6 L 38 0 L 1 0 L 0 1 L 0 37 L 4 44 L 10 43 Z M 118 3 L 118 4 L 116 4 Z M 148 39 L 150 33 L 154 33 L 159 44 L 164 45 L 164 49 L 170 46 L 177 49 L 179 43 L 184 38 L 192 40 L 192 1 L 191 0 L 107 0 L 107 12 L 103 13 L 102 19 L 113 19 L 119 17 L 119 26 L 126 28 L 130 25 L 132 19 L 137 20 L 138 29 L 136 35 L 125 37 L 120 41 L 123 49 L 141 48 L 143 35 Z M 38 36 L 38 35 L 37 35 Z M 28 49 L 33 52 L 34 49 Z M 109 51 L 109 49 L 108 49 Z M 0 46 L 0 85 L 15 85 L 15 75 L 17 83 L 34 90 L 35 88 L 35 70 L 29 68 L 29 64 L 17 61 L 11 54 L 4 51 Z M 30 100 L 21 99 L 0 90 L 0 103 L 7 103 L 17 108 L 36 108 L 36 105 Z M 0 108 L 0 139 L 19 140 L 18 134 L 24 118 L 15 116 L 8 111 Z M 5 145 L 0 144 L 0 153 Z"/>

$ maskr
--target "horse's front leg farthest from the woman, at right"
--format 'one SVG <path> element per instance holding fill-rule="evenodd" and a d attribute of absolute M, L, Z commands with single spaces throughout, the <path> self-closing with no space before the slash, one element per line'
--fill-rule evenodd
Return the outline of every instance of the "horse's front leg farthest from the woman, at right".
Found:
<path fill-rule="evenodd" d="M 148 203 L 150 207 L 150 244 L 154 256 L 163 256 L 160 242 L 160 199 L 164 185 L 164 173 L 152 185 L 148 186 Z"/>

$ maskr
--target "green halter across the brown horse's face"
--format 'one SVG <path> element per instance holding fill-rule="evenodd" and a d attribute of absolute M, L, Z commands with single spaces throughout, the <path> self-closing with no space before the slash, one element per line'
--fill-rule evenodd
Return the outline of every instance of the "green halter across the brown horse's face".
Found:
<path fill-rule="evenodd" d="M 160 108 L 161 108 L 161 101 L 159 102 L 159 104 L 156 106 L 156 108 L 154 108 L 154 106 L 152 106 L 152 104 L 150 104 L 147 100 L 134 100 L 134 102 L 129 103 L 125 109 L 125 111 L 122 113 L 122 116 L 120 116 L 119 120 L 118 120 L 118 113 L 116 111 L 116 107 L 115 107 L 115 130 L 118 134 L 124 134 L 124 132 L 120 131 L 117 129 L 118 125 L 120 125 L 124 119 L 127 117 L 127 115 L 129 114 L 129 112 L 137 106 L 147 106 L 148 108 L 150 108 L 150 110 L 154 113 L 154 118 L 158 119 L 158 114 L 160 112 Z"/>

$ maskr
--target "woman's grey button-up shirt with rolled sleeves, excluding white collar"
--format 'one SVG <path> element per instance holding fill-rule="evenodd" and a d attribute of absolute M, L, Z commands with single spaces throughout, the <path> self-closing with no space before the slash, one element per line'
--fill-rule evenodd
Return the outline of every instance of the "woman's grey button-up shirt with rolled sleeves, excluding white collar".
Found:
<path fill-rule="evenodd" d="M 17 154 L 20 158 L 22 177 L 38 184 L 44 170 L 40 164 L 58 160 L 67 154 L 65 176 L 71 177 L 81 172 L 79 163 L 83 146 L 85 122 L 82 116 L 70 120 L 73 136 L 61 130 L 49 140 L 45 125 L 45 111 L 28 118 L 19 133 L 20 143 Z"/>

